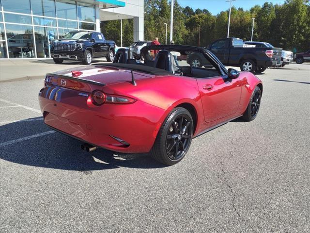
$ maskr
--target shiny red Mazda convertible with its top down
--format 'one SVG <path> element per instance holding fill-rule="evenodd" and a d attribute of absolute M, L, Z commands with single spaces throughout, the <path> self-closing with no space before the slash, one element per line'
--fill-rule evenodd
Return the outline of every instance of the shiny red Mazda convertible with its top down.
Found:
<path fill-rule="evenodd" d="M 177 61 L 192 52 L 212 66 Z M 120 49 L 111 64 L 47 74 L 39 102 L 45 124 L 84 150 L 150 152 L 173 165 L 194 137 L 237 117 L 255 119 L 262 92 L 255 75 L 227 70 L 208 50 L 160 45 L 141 49 L 139 61 Z"/>

